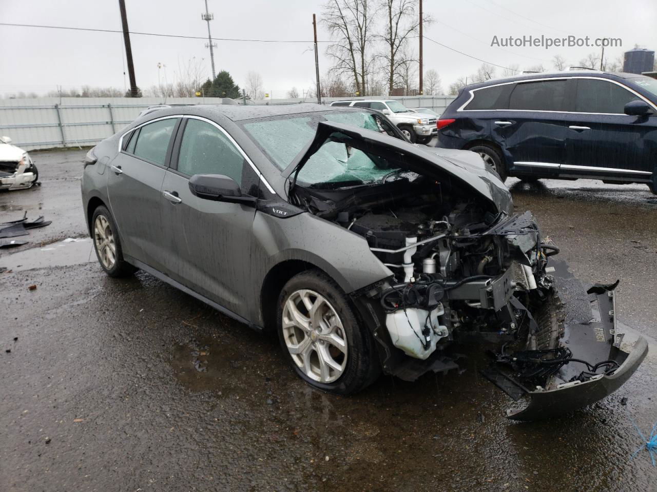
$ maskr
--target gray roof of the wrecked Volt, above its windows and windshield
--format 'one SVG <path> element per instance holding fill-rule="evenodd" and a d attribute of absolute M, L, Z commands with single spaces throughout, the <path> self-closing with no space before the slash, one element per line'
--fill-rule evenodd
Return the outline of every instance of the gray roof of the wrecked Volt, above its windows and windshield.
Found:
<path fill-rule="evenodd" d="M 263 118 L 268 116 L 282 116 L 298 113 L 319 113 L 325 111 L 344 111 L 345 106 L 324 106 L 317 103 L 302 104 L 248 104 L 247 106 L 237 106 L 234 104 L 196 104 L 192 106 L 177 106 L 175 108 L 166 108 L 148 113 L 153 115 L 164 116 L 170 114 L 190 114 L 198 116 L 211 117 L 212 115 L 221 115 L 232 121 L 243 121 L 246 119 Z"/>

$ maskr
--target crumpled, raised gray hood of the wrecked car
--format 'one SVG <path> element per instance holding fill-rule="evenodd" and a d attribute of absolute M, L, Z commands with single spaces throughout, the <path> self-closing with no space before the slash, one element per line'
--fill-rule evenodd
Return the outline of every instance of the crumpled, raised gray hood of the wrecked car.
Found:
<path fill-rule="evenodd" d="M 447 174 L 465 188 L 470 188 L 486 198 L 498 213 L 510 215 L 513 211 L 509 190 L 495 174 L 486 169 L 482 158 L 474 152 L 414 145 L 386 134 L 342 123 L 321 121 L 317 125 L 315 138 L 283 171 L 283 176 L 291 177 L 294 183 L 300 169 L 327 140 L 342 142 L 364 152 L 385 156 L 402 169 L 415 173 L 428 174 L 436 178 Z"/>

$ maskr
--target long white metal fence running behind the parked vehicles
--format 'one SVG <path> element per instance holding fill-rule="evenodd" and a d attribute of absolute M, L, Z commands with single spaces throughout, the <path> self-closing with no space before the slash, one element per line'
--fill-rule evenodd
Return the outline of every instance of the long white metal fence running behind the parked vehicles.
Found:
<path fill-rule="evenodd" d="M 324 98 L 328 104 L 341 98 Z M 342 98 L 366 99 L 366 98 Z M 407 108 L 432 108 L 438 113 L 453 96 L 402 96 Z M 25 150 L 94 145 L 120 131 L 139 112 L 162 104 L 162 98 L 36 98 L 0 100 L 0 135 Z M 248 104 L 298 104 L 304 99 L 249 101 Z M 167 104 L 220 104 L 220 98 L 167 98 Z"/>

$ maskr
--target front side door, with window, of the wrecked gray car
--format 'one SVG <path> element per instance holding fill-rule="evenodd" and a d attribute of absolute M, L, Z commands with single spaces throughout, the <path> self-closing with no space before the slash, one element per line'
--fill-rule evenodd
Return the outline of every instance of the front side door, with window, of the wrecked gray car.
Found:
<path fill-rule="evenodd" d="M 219 125 L 185 117 L 171 169 L 162 184 L 162 226 L 167 272 L 193 291 L 240 316 L 248 314 L 251 249 L 256 209 L 202 199 L 189 190 L 194 174 L 224 174 L 242 194 L 258 195 L 258 176 L 237 144 Z M 177 154 L 177 158 L 175 157 Z"/>

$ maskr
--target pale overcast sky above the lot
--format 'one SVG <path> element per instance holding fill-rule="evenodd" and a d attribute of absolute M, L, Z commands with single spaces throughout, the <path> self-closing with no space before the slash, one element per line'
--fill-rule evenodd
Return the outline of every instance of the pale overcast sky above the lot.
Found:
<path fill-rule="evenodd" d="M 131 31 L 179 35 L 207 35 L 201 20 L 203 0 L 125 0 Z M 209 0 L 213 37 L 311 40 L 312 14 L 321 19 L 320 0 Z M 491 47 L 493 35 L 621 38 L 622 48 L 607 49 L 609 58 L 640 45 L 657 49 L 657 1 L 655 0 L 424 0 L 424 11 L 436 20 L 425 35 L 488 62 L 528 68 L 542 63 L 553 68 L 551 59 L 560 54 L 571 64 L 593 48 Z M 44 24 L 79 28 L 121 28 L 118 0 L 0 0 L 0 22 Z M 319 39 L 327 33 L 319 26 Z M 132 35 L 137 85 L 158 84 L 158 62 L 166 65 L 169 82 L 179 64 L 195 56 L 203 58 L 210 75 L 210 54 L 200 39 L 171 39 Z M 417 40 L 413 41 L 414 44 Z M 250 70 L 261 74 L 265 91 L 284 96 L 292 86 L 302 90 L 313 85 L 315 64 L 312 43 L 256 43 L 217 41 L 217 72 L 228 70 L 244 85 Z M 373 45 L 373 48 L 376 45 Z M 44 94 L 57 85 L 64 88 L 112 86 L 124 89 L 119 33 L 64 31 L 0 26 L 0 94 L 16 91 Z M 330 62 L 320 45 L 320 69 Z M 481 62 L 424 42 L 425 72 L 440 73 L 443 87 L 457 77 L 476 72 Z M 497 69 L 501 72 L 501 69 Z M 164 69 L 160 72 L 164 79 Z M 164 80 L 163 80 L 164 81 Z"/>

